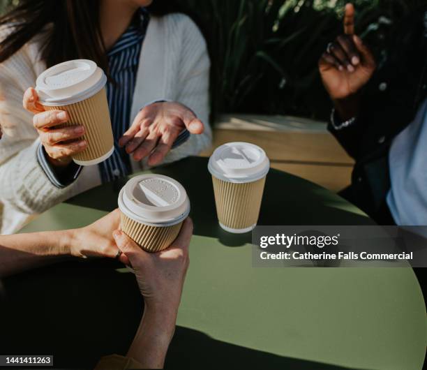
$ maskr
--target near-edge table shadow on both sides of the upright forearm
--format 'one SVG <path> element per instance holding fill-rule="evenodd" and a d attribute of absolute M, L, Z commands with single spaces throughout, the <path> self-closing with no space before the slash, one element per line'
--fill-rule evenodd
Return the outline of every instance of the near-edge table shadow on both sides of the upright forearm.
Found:
<path fill-rule="evenodd" d="M 112 260 L 65 262 L 0 280 L 0 354 L 54 355 L 54 366 L 93 369 L 125 354 L 143 302 L 135 276 Z M 169 369 L 343 369 L 273 355 L 177 327 Z"/>

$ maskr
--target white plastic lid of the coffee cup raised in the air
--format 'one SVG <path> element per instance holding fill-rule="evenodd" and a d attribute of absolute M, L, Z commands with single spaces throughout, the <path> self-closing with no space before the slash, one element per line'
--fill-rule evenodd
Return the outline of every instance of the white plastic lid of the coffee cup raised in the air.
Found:
<path fill-rule="evenodd" d="M 94 61 L 77 59 L 57 64 L 38 76 L 36 90 L 44 105 L 68 105 L 95 95 L 107 83 Z"/>

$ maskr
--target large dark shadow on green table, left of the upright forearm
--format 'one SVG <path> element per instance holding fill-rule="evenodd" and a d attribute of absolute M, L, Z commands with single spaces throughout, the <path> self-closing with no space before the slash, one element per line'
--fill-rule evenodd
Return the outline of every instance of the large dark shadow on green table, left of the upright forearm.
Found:
<path fill-rule="evenodd" d="M 59 369 L 93 369 L 126 353 L 143 301 L 116 261 L 64 262 L 0 280 L 0 355 L 53 355 Z"/>

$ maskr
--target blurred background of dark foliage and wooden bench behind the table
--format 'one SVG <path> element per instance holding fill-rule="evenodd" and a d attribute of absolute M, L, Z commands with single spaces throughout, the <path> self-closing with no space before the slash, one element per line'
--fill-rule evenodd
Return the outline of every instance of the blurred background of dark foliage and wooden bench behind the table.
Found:
<path fill-rule="evenodd" d="M 254 142 L 274 168 L 334 191 L 350 184 L 353 161 L 326 130 L 331 103 L 317 71 L 327 44 L 343 32 L 347 0 L 177 1 L 209 45 L 213 147 Z M 425 2 L 352 0 L 357 34 L 378 64 L 394 24 Z M 0 0 L 0 12 L 17 3 Z"/>

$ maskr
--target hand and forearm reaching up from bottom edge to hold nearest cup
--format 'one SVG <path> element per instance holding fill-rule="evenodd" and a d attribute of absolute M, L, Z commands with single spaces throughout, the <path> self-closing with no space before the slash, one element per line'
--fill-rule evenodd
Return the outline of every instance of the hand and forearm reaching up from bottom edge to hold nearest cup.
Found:
<path fill-rule="evenodd" d="M 144 296 L 144 316 L 127 354 L 140 362 L 142 369 L 163 369 L 177 321 L 192 234 L 193 223 L 186 219 L 172 246 L 159 253 L 147 253 L 123 232 L 114 232 L 119 249 L 135 269 Z"/>

